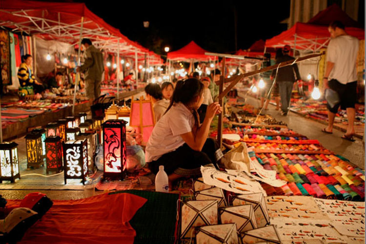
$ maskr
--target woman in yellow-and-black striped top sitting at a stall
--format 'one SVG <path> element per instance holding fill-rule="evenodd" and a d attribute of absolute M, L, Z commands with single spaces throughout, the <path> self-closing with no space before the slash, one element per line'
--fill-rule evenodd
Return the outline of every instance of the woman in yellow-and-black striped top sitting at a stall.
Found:
<path fill-rule="evenodd" d="M 19 66 L 18 78 L 20 86 L 33 86 L 34 93 L 41 93 L 44 90 L 43 85 L 36 81 L 32 71 L 33 58 L 31 55 L 26 54 L 22 57 L 22 63 Z"/>

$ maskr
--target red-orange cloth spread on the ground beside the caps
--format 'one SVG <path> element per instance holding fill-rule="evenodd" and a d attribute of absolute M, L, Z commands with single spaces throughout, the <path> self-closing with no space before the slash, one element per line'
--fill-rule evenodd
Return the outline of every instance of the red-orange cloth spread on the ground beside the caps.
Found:
<path fill-rule="evenodd" d="M 129 193 L 56 200 L 20 244 L 133 244 L 136 232 L 128 221 L 146 201 Z M 9 200 L 7 207 L 15 204 Z"/>

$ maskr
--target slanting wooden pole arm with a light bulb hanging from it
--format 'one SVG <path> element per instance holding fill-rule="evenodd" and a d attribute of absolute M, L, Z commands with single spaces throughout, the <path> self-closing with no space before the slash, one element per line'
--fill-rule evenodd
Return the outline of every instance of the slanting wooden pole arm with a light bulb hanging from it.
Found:
<path fill-rule="evenodd" d="M 285 61 L 285 62 L 281 62 L 281 63 L 278 63 L 278 64 L 275 64 L 275 65 L 271 65 L 271 66 L 268 66 L 268 67 L 265 67 L 263 69 L 258 69 L 258 70 L 255 70 L 255 71 L 252 71 L 252 72 L 249 72 L 249 73 L 245 73 L 243 75 L 240 75 L 240 76 L 233 76 L 233 77 L 230 77 L 229 79 L 225 79 L 225 83 L 226 82 L 231 82 L 227 87 L 226 89 L 221 92 L 219 94 L 219 100 L 220 99 L 223 99 L 224 96 L 226 96 L 227 93 L 229 93 L 229 91 L 239 82 L 241 81 L 244 77 L 248 77 L 248 76 L 252 76 L 252 75 L 256 75 L 256 74 L 260 74 L 260 73 L 263 73 L 265 71 L 269 71 L 269 70 L 272 70 L 272 69 L 277 69 L 277 67 L 284 67 L 284 66 L 288 66 L 288 65 L 292 65 L 294 63 L 298 63 L 298 62 L 301 62 L 301 61 L 304 61 L 304 60 L 308 60 L 308 59 L 312 59 L 312 58 L 316 58 L 316 57 L 319 57 L 319 56 L 322 56 L 324 55 L 325 52 L 322 52 L 320 54 L 311 54 L 311 55 L 307 55 L 305 57 L 302 57 L 302 58 L 298 58 L 298 59 L 295 59 L 295 60 L 289 60 L 289 61 Z M 224 60 L 224 59 L 223 59 Z M 221 82 L 221 79 L 220 79 L 220 82 Z M 224 85 L 224 84 L 223 84 Z"/>

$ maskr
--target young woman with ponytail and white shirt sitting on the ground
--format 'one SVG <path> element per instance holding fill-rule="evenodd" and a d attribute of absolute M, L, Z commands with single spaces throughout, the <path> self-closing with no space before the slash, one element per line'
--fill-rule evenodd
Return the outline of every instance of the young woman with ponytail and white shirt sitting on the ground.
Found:
<path fill-rule="evenodd" d="M 203 124 L 197 109 L 203 102 L 203 83 L 197 79 L 178 81 L 170 105 L 156 123 L 145 149 L 150 170 L 157 174 L 164 165 L 169 190 L 173 181 L 183 176 L 200 175 L 201 165 L 216 163 L 222 155 L 219 146 L 207 139 L 215 115 L 222 112 L 218 102 L 207 107 Z"/>

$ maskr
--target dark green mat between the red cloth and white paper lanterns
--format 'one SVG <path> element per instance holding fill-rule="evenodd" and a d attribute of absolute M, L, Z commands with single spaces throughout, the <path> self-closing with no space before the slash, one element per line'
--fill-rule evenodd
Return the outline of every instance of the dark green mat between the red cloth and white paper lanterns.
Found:
<path fill-rule="evenodd" d="M 147 199 L 130 221 L 136 230 L 134 244 L 173 244 L 179 194 L 155 191 L 125 190 L 111 192 L 130 193 Z"/>

